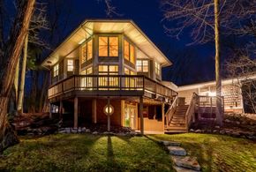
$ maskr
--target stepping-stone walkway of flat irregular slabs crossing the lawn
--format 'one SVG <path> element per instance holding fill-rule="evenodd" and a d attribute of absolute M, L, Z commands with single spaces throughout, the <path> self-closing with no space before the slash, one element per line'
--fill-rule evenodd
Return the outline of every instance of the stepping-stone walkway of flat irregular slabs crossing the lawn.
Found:
<path fill-rule="evenodd" d="M 160 143 L 169 151 L 171 160 L 173 161 L 173 168 L 177 172 L 200 171 L 200 164 L 197 158 L 187 155 L 180 143 L 163 140 Z"/>

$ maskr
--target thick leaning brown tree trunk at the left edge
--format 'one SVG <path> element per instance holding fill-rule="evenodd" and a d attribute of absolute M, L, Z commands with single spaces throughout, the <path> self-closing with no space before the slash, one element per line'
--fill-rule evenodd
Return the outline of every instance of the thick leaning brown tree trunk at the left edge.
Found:
<path fill-rule="evenodd" d="M 19 1 L 17 16 L 11 29 L 10 40 L 4 56 L 1 56 L 4 59 L 8 59 L 8 63 L 4 66 L 4 70 L 1 71 L 2 82 L 0 82 L 0 152 L 8 146 L 19 142 L 19 138 L 8 122 L 7 107 L 14 80 L 13 73 L 15 73 L 21 49 L 23 48 L 29 22 L 33 15 L 34 4 L 35 0 Z"/>

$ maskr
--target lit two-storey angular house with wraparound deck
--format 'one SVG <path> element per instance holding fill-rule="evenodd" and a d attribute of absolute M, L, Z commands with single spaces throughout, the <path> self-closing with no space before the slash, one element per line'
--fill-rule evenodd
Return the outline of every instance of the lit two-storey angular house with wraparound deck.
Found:
<path fill-rule="evenodd" d="M 171 65 L 132 20 L 88 19 L 41 64 L 50 70 L 51 112 L 73 127 L 108 123 L 165 131 L 177 92 L 162 81 Z"/>

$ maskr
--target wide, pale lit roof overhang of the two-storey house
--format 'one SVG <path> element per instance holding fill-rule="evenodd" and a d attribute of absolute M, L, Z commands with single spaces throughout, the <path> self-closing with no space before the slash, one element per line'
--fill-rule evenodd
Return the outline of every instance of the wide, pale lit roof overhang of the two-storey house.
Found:
<path fill-rule="evenodd" d="M 42 66 L 51 67 L 60 58 L 69 56 L 82 41 L 98 33 L 124 34 L 147 56 L 156 59 L 162 67 L 171 65 L 169 59 L 163 55 L 152 41 L 144 34 L 132 20 L 93 19 L 84 21 L 70 34 L 43 62 Z"/>

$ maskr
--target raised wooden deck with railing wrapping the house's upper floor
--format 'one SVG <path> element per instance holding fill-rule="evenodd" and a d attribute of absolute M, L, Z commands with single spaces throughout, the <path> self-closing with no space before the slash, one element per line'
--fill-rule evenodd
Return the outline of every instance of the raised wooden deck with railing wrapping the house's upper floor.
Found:
<path fill-rule="evenodd" d="M 171 102 L 177 92 L 139 75 L 73 75 L 49 87 L 49 101 L 68 97 L 144 96 Z"/>

